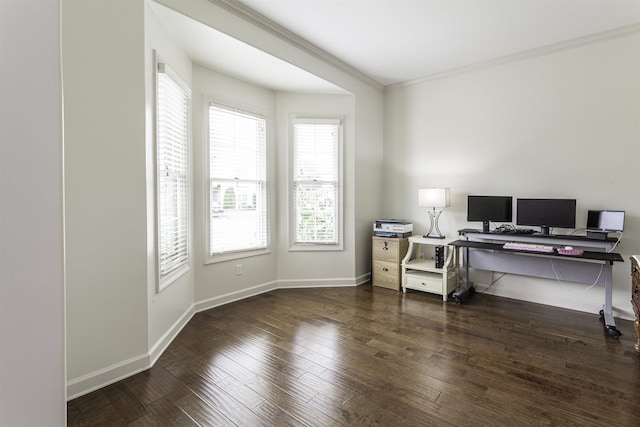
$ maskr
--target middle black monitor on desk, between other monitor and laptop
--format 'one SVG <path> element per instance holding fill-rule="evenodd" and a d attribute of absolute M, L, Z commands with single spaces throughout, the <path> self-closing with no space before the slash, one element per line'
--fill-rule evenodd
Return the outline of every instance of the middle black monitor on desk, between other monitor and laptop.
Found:
<path fill-rule="evenodd" d="M 518 199 L 516 224 L 538 226 L 543 235 L 551 227 L 576 227 L 576 199 Z"/>

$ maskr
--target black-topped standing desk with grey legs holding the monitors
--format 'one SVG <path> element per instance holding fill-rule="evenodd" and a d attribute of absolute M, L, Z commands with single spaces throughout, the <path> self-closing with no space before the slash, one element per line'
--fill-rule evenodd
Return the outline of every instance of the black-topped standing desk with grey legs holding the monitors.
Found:
<path fill-rule="evenodd" d="M 541 235 L 518 233 L 485 233 L 480 230 L 463 229 L 458 233 L 463 239 L 450 245 L 463 249 L 464 274 L 461 293 L 473 291 L 469 282 L 469 268 L 522 274 L 568 282 L 597 284 L 604 286 L 604 305 L 600 315 L 604 317 L 607 332 L 613 338 L 621 334 L 616 328 L 612 314 L 614 262 L 624 262 L 622 256 L 611 252 L 617 239 L 592 239 L 584 236 Z M 523 242 L 554 247 L 572 246 L 582 249 L 582 255 L 562 255 L 504 249 L 505 242 Z M 591 249 L 591 250 L 587 250 Z M 594 250 L 595 249 L 595 250 Z M 454 295 L 459 298 L 460 295 Z"/>

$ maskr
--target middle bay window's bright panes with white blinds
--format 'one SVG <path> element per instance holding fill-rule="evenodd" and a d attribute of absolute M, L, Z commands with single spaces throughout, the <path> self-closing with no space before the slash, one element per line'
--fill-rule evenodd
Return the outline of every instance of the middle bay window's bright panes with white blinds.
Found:
<path fill-rule="evenodd" d="M 210 262 L 267 248 L 266 141 L 263 116 L 209 105 Z"/>

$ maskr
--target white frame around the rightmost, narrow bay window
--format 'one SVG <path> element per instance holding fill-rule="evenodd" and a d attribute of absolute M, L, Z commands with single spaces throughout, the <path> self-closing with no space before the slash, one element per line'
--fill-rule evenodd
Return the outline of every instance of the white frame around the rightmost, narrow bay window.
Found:
<path fill-rule="evenodd" d="M 291 115 L 289 119 L 289 251 L 342 251 L 344 250 L 344 118 L 341 116 L 310 116 Z M 294 173 L 294 150 L 295 150 L 295 126 L 296 124 L 334 124 L 338 128 L 338 165 L 337 165 L 337 208 L 336 208 L 336 233 L 337 242 L 298 242 L 297 222 L 296 222 L 296 195 L 295 195 L 295 173 Z"/>

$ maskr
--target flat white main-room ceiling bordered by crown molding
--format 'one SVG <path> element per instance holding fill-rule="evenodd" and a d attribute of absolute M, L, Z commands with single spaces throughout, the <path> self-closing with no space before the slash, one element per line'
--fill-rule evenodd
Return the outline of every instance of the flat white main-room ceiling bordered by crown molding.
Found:
<path fill-rule="evenodd" d="M 240 2 L 383 85 L 640 23 L 640 0 Z"/>

